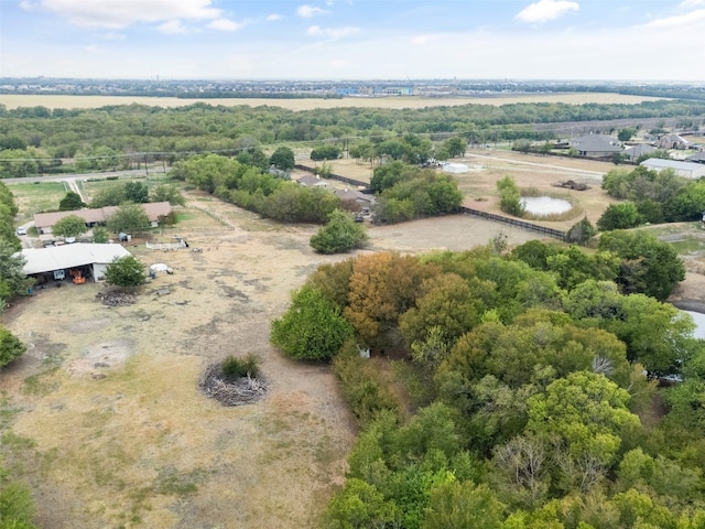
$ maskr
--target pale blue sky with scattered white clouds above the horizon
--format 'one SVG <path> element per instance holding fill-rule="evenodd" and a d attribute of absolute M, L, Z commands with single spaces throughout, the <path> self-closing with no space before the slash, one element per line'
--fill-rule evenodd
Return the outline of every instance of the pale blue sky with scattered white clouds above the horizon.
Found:
<path fill-rule="evenodd" d="M 705 82 L 705 0 L 0 0 L 0 77 Z"/>

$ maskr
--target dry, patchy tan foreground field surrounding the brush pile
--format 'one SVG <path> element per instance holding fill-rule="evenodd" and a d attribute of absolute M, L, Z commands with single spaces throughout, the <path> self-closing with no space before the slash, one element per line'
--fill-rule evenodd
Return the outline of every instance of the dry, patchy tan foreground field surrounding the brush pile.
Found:
<path fill-rule="evenodd" d="M 315 226 L 189 199 L 180 229 L 191 249 L 129 247 L 174 269 L 137 303 L 106 306 L 96 299 L 104 285 L 65 284 L 0 316 L 28 345 L 0 373 L 0 453 L 30 483 L 42 527 L 315 527 L 341 483 L 355 427 L 333 375 L 289 361 L 268 336 L 289 292 L 345 256 L 314 253 Z M 234 227 L 205 222 L 204 209 Z M 448 216 L 371 228 L 365 251 L 462 250 L 500 231 L 516 244 L 535 238 Z M 270 381 L 264 400 L 224 408 L 199 392 L 208 363 L 248 353 Z"/>

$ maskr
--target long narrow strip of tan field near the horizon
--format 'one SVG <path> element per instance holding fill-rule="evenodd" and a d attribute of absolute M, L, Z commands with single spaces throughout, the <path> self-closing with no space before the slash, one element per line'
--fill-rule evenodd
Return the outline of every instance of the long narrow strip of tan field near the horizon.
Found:
<path fill-rule="evenodd" d="M 57 96 L 57 95 L 14 95 L 0 94 L 0 105 L 7 108 L 36 107 L 47 108 L 99 108 L 107 105 L 149 105 L 154 107 L 184 107 L 195 102 L 237 107 L 281 107 L 289 110 L 312 110 L 314 108 L 424 108 L 454 107 L 458 105 L 494 105 L 512 102 L 568 102 L 583 105 L 586 102 L 621 102 L 633 105 L 641 101 L 658 100 L 657 97 L 628 96 L 621 94 L 551 94 L 551 95 L 510 95 L 497 97 L 346 97 L 343 99 L 268 99 L 268 98 L 229 98 L 229 99 L 181 99 L 176 97 L 138 97 L 138 96 Z"/>

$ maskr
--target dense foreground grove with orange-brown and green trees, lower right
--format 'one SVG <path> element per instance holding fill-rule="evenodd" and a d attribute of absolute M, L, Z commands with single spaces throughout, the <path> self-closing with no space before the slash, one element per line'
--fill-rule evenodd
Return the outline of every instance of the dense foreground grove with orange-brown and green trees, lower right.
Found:
<path fill-rule="evenodd" d="M 622 259 L 657 259 L 614 252 L 648 253 L 636 237 L 592 255 L 375 253 L 312 274 L 272 341 L 334 357 L 362 427 L 324 526 L 701 527 L 705 347 L 690 316 L 615 282 Z M 686 382 L 659 389 L 665 375 Z"/>

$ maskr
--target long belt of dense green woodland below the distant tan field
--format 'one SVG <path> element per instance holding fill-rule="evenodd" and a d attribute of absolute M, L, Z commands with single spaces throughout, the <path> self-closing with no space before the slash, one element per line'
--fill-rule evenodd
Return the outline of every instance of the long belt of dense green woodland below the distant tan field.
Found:
<path fill-rule="evenodd" d="M 273 106 L 229 108 L 206 104 L 178 108 L 124 105 L 53 110 L 0 106 L 0 177 L 75 169 L 139 169 L 155 160 L 172 163 L 185 153 L 228 151 L 236 154 L 257 144 L 328 142 L 340 138 L 367 140 L 378 149 L 372 156 L 406 158 L 416 163 L 417 156 L 409 152 L 409 145 L 425 155 L 429 139 L 414 139 L 414 134 L 430 134 L 432 139 L 435 134 L 457 137 L 454 142 L 442 145 L 440 154 L 443 159 L 462 154 L 463 142 L 485 144 L 517 139 L 554 139 L 552 132 L 536 131 L 533 123 L 686 115 L 693 118 L 704 114 L 702 101 L 677 100 L 638 105 L 542 102 L 296 112 Z M 372 158 L 364 151 L 354 158 Z M 356 152 L 360 153 L 360 150 Z M 352 155 L 352 148 L 350 153 Z M 62 159 L 72 158 L 77 159 L 77 166 L 65 168 Z"/>

